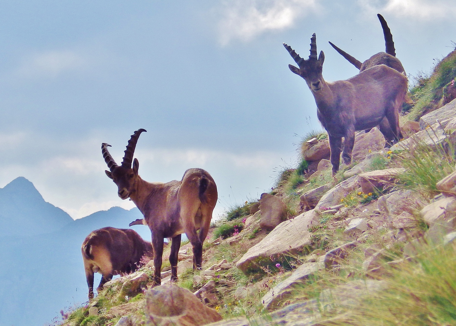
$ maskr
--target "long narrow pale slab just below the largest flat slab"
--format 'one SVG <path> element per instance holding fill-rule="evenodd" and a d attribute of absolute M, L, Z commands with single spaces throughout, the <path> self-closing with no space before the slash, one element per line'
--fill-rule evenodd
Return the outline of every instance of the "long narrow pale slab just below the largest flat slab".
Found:
<path fill-rule="evenodd" d="M 306 263 L 299 266 L 293 271 L 293 273 L 287 279 L 275 285 L 274 288 L 269 290 L 266 295 L 261 299 L 264 308 L 269 308 L 271 305 L 276 304 L 279 300 L 283 299 L 285 295 L 288 295 L 293 290 L 293 287 L 308 279 L 310 275 L 314 274 L 319 269 L 324 269 L 322 263 Z"/>

